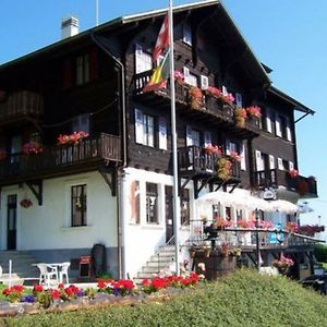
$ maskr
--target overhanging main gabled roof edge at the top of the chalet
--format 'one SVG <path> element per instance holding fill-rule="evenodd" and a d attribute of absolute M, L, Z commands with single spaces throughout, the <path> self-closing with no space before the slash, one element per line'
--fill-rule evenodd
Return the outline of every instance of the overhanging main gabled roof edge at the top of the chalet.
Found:
<path fill-rule="evenodd" d="M 268 75 L 265 71 L 265 68 L 263 66 L 263 64 L 255 57 L 254 52 L 250 48 L 249 44 L 245 41 L 244 37 L 242 36 L 241 32 L 239 31 L 239 28 L 234 24 L 234 22 L 231 19 L 230 14 L 227 12 L 225 7 L 222 5 L 221 1 L 219 1 L 219 0 L 206 0 L 206 1 L 198 1 L 198 2 L 194 2 L 194 3 L 190 3 L 190 4 L 177 5 L 177 7 L 173 8 L 173 12 L 174 13 L 180 13 L 180 12 L 183 12 L 183 11 L 192 11 L 192 10 L 196 10 L 196 9 L 207 8 L 207 7 L 214 7 L 215 9 L 220 10 L 220 12 L 222 13 L 223 20 L 225 20 L 223 22 L 226 22 L 228 24 L 228 29 L 231 33 L 233 33 L 237 41 L 239 44 L 241 44 L 246 49 L 246 53 L 245 53 L 244 58 L 246 57 L 246 60 L 249 60 L 249 62 L 251 62 L 251 72 L 252 73 L 255 72 L 255 76 L 257 76 L 257 78 L 259 78 L 259 81 L 262 81 L 263 85 L 268 86 L 271 82 L 270 82 L 270 80 L 269 80 L 269 77 L 268 77 Z M 64 48 L 64 47 L 69 46 L 70 44 L 78 44 L 82 39 L 87 39 L 89 37 L 89 35 L 93 34 L 93 33 L 109 32 L 111 29 L 120 28 L 124 25 L 128 25 L 128 24 L 131 24 L 131 23 L 134 23 L 134 22 L 141 22 L 141 21 L 144 21 L 144 20 L 149 20 L 149 19 L 154 19 L 154 17 L 157 17 L 157 16 L 162 16 L 166 12 L 167 12 L 167 8 L 114 19 L 114 20 L 109 21 L 107 23 L 104 23 L 99 26 L 96 26 L 96 27 L 89 28 L 85 32 L 82 32 L 76 36 L 73 36 L 73 37 L 70 37 L 70 38 L 66 38 L 66 39 L 63 39 L 63 40 L 59 40 L 58 43 L 55 43 L 50 46 L 47 46 L 45 48 L 41 48 L 41 49 L 36 50 L 34 52 L 31 52 L 26 56 L 23 56 L 21 58 L 15 59 L 13 61 L 7 62 L 7 63 L 0 65 L 0 72 L 5 70 L 5 69 L 9 69 L 11 66 L 14 66 L 16 64 L 36 59 L 36 58 L 38 58 L 40 56 L 44 56 L 46 53 L 50 53 L 51 51 L 56 51 L 56 50 L 59 50 L 61 48 Z"/>

